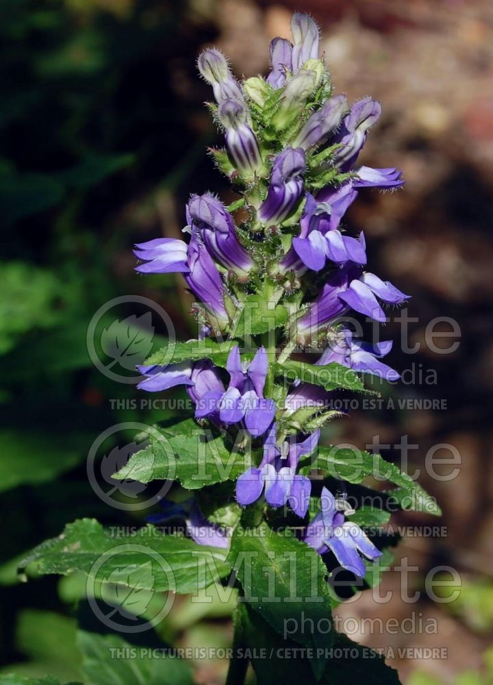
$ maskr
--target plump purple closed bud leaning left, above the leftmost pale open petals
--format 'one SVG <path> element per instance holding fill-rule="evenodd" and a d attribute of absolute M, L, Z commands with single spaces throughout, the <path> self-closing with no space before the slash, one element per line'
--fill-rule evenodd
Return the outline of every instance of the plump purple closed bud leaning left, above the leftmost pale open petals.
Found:
<path fill-rule="evenodd" d="M 247 280 L 254 262 L 240 245 L 233 217 L 223 203 L 210 192 L 192 195 L 187 205 L 187 219 L 192 227 L 192 242 L 199 234 L 212 257 L 234 271 L 240 280 Z"/>

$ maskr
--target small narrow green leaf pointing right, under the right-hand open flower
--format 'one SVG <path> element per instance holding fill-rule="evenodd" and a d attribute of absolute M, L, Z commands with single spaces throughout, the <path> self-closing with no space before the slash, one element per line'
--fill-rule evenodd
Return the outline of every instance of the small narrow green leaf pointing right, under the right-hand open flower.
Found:
<path fill-rule="evenodd" d="M 279 375 L 285 375 L 290 381 L 299 380 L 312 383 L 322 386 L 325 390 L 343 388 L 344 390 L 356 390 L 359 393 L 370 393 L 370 390 L 367 390 L 363 385 L 362 379 L 352 369 L 348 369 L 347 366 L 342 366 L 337 362 L 317 366 L 316 364 L 307 364 L 307 362 L 288 360 L 283 364 L 276 364 L 275 371 Z"/>

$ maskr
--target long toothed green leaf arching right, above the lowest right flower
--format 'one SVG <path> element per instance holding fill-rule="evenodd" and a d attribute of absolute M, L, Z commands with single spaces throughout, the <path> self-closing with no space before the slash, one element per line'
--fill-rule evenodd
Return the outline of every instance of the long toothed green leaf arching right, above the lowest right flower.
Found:
<path fill-rule="evenodd" d="M 388 480 L 399 486 L 396 490 L 385 493 L 395 499 L 405 510 L 426 512 L 440 516 L 440 507 L 435 499 L 407 473 L 399 471 L 395 464 L 386 462 L 379 454 L 351 449 L 350 447 L 320 447 L 300 462 L 300 473 L 308 475 L 313 469 L 323 471 L 325 475 L 346 480 L 349 483 L 361 483 L 366 477 L 377 480 Z"/>

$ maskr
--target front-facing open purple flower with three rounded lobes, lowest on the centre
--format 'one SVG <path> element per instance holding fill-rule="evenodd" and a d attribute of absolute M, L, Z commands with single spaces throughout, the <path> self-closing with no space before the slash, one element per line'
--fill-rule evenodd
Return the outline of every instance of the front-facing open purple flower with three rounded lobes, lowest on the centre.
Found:
<path fill-rule="evenodd" d="M 270 506 L 282 507 L 289 502 L 298 516 L 305 516 L 312 484 L 306 476 L 296 474 L 301 456 L 314 451 L 320 438 L 320 431 L 314 432 L 302 443 L 276 445 L 276 424 L 268 432 L 264 442 L 264 456 L 258 468 L 247 469 L 236 482 L 236 499 L 247 506 L 257 499 L 265 489 Z"/>

